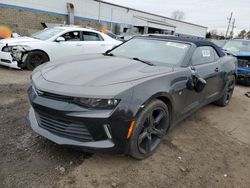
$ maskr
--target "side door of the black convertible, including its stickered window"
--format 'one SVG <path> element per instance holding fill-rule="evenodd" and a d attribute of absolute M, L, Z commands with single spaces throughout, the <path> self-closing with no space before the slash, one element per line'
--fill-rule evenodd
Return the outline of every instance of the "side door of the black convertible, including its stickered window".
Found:
<path fill-rule="evenodd" d="M 190 67 L 207 83 L 199 93 L 194 90 L 188 91 L 184 112 L 195 109 L 204 103 L 213 102 L 220 94 L 223 79 L 218 60 L 219 56 L 213 47 L 201 46 L 194 51 Z"/>

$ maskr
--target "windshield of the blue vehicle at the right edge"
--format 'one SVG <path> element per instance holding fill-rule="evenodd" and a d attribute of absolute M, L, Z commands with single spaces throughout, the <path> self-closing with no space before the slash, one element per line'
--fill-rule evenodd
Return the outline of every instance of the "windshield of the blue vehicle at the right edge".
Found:
<path fill-rule="evenodd" d="M 223 49 L 229 52 L 250 52 L 250 41 L 231 40 L 225 44 Z"/>

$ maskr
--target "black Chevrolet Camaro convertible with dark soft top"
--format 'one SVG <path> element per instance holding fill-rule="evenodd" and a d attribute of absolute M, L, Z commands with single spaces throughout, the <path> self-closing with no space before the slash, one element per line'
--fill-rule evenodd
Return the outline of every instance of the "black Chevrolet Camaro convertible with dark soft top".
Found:
<path fill-rule="evenodd" d="M 35 69 L 28 118 L 57 144 L 144 159 L 195 110 L 226 106 L 235 78 L 236 59 L 211 42 L 135 37 L 105 54 Z"/>

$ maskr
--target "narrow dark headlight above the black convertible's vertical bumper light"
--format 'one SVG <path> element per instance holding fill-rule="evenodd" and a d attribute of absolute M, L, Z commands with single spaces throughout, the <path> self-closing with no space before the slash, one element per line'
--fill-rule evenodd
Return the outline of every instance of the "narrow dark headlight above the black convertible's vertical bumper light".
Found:
<path fill-rule="evenodd" d="M 120 100 L 119 99 L 77 98 L 76 102 L 87 108 L 113 109 L 118 105 Z"/>

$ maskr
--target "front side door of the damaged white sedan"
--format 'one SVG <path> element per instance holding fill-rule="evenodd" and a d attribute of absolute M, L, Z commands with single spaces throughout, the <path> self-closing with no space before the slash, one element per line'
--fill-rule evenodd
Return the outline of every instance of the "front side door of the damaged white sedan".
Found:
<path fill-rule="evenodd" d="M 66 32 L 61 37 L 65 41 L 53 42 L 53 48 L 51 49 L 53 59 L 84 54 L 80 31 Z"/>

